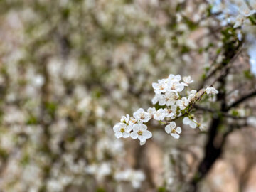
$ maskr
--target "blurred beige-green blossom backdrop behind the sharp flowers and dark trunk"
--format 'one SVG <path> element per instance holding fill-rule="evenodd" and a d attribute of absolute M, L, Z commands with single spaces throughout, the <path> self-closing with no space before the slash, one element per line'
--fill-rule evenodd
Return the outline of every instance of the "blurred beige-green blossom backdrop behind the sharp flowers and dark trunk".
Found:
<path fill-rule="evenodd" d="M 151 83 L 170 73 L 202 85 L 222 60 L 226 27 L 211 8 L 203 0 L 0 1 L 0 191 L 189 191 L 210 114 L 198 113 L 203 132 L 187 127 L 178 140 L 152 122 L 144 146 L 117 139 L 112 127 L 151 107 Z M 255 84 L 247 51 L 236 60 L 228 90 L 245 92 Z M 256 191 L 255 162 L 255 128 L 235 130 L 198 190 Z"/>

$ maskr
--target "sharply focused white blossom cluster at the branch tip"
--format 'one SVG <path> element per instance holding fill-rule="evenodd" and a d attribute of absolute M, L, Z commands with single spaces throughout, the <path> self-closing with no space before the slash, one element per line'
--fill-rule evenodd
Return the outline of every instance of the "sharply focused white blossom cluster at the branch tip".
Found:
<path fill-rule="evenodd" d="M 183 124 L 189 125 L 193 129 L 200 126 L 190 111 L 205 93 L 207 95 L 218 94 L 218 90 L 214 87 L 207 87 L 199 92 L 187 90 L 192 82 L 191 76 L 183 77 L 181 80 L 181 75 L 173 74 L 168 78 L 153 82 L 155 95 L 152 103 L 153 105 L 158 103 L 156 106 L 158 110 L 156 107 L 149 107 L 146 111 L 139 108 L 133 113 L 133 117 L 130 117 L 129 114 L 123 116 L 120 122 L 113 127 L 115 137 L 139 139 L 140 144 L 143 145 L 146 143 L 146 139 L 152 137 L 152 133 L 146 126 L 151 119 L 166 124 L 166 133 L 171 134 L 175 139 L 178 139 L 181 134 L 181 127 L 178 127 L 175 122 L 178 117 L 183 117 Z"/>

